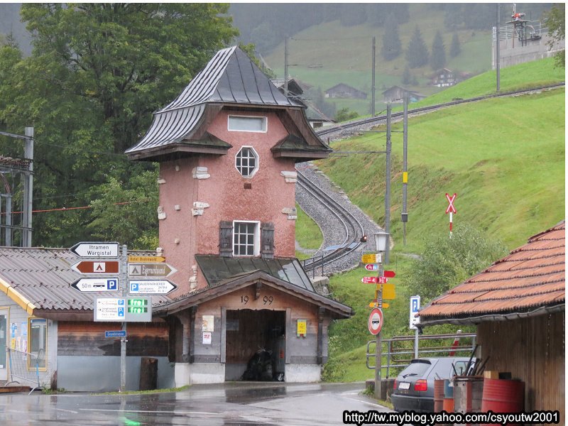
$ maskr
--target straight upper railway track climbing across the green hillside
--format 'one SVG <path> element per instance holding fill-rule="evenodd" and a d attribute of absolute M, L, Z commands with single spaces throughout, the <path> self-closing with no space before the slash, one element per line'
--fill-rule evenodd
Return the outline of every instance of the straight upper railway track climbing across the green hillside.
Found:
<path fill-rule="evenodd" d="M 564 87 L 564 82 L 558 84 L 550 84 L 547 86 L 532 87 L 531 89 L 515 90 L 513 92 L 502 92 L 496 94 L 488 94 L 485 96 L 474 97 L 469 99 L 454 99 L 452 102 L 446 102 L 445 104 L 430 105 L 429 107 L 420 107 L 408 110 L 408 116 L 416 116 L 420 114 L 425 114 L 428 112 L 436 111 L 438 109 L 443 109 L 447 107 L 453 107 L 454 105 L 466 104 L 469 102 L 479 102 L 485 99 L 491 99 L 496 97 L 510 97 L 518 96 L 520 94 L 528 94 L 538 90 L 547 89 L 557 89 L 558 87 Z M 404 116 L 403 112 L 395 112 L 391 114 L 391 119 L 393 121 L 402 119 Z M 378 126 L 378 124 L 386 123 L 386 115 L 374 116 L 366 119 L 350 121 L 349 123 L 340 124 L 337 126 L 328 126 L 319 131 L 316 131 L 317 136 L 320 138 L 327 137 L 328 141 L 332 141 L 339 138 L 346 138 L 351 136 L 356 131 L 368 130 L 373 126 Z"/>

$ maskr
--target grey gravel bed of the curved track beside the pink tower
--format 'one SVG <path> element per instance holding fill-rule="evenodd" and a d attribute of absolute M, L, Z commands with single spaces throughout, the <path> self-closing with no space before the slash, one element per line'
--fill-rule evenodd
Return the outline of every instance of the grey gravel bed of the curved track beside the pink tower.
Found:
<path fill-rule="evenodd" d="M 341 190 L 341 188 L 334 185 L 333 182 L 327 178 L 320 170 L 317 170 L 316 166 L 312 163 L 297 163 L 297 170 L 300 170 L 305 177 L 320 187 L 321 190 L 327 193 L 332 199 L 343 207 L 349 210 L 351 214 L 356 217 L 359 222 L 363 225 L 365 234 L 368 237 L 366 244 L 361 244 L 358 249 L 352 251 L 348 256 L 330 263 L 324 266 L 323 274 L 322 269 L 317 268 L 315 275 L 333 275 L 334 273 L 340 273 L 344 271 L 349 271 L 353 268 L 359 266 L 361 262 L 361 255 L 365 252 L 374 251 L 373 242 L 373 232 L 381 230 L 375 222 L 371 220 L 364 212 L 359 209 L 354 204 L 351 204 L 349 197 Z M 306 212 L 322 229 L 322 234 L 324 236 L 324 242 L 320 249 L 315 253 L 314 256 L 321 256 L 324 253 L 324 249 L 329 246 L 334 246 L 336 244 L 342 244 L 345 238 L 345 231 L 343 227 L 339 227 L 339 221 L 336 217 L 329 212 L 326 207 L 323 207 L 319 200 L 311 197 L 300 185 L 296 185 L 296 202 L 300 205 L 302 210 Z M 313 275 L 310 271 L 310 275 Z"/>

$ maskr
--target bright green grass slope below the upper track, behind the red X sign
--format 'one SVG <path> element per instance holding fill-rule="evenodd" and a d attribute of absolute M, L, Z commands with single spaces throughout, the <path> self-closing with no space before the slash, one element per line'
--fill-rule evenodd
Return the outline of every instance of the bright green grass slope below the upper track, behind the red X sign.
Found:
<path fill-rule="evenodd" d="M 462 84 L 453 88 L 452 97 L 469 97 L 469 82 Z M 421 236 L 448 227 L 446 192 L 457 193 L 454 223 L 479 226 L 510 249 L 562 219 L 564 104 L 562 88 L 462 104 L 409 119 L 409 222 L 404 249 L 398 242 L 402 241 L 403 137 L 393 132 L 391 229 L 396 249 L 419 253 Z M 393 131 L 401 130 L 402 123 L 393 124 Z M 332 148 L 381 151 L 385 135 L 368 133 L 333 143 Z M 365 154 L 317 164 L 334 182 L 341 182 L 353 202 L 383 224 L 384 163 L 384 155 Z"/>

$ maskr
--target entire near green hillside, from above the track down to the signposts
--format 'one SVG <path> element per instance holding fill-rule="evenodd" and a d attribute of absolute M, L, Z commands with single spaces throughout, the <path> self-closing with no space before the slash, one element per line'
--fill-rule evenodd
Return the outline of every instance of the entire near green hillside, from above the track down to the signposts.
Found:
<path fill-rule="evenodd" d="M 555 79 L 550 60 L 511 68 L 511 87 Z M 530 71 L 532 70 L 532 71 Z M 535 76 L 542 76 L 535 77 Z M 467 98 L 494 91 L 494 73 L 467 80 L 442 99 Z M 542 84 L 542 83 L 539 83 Z M 451 92 L 450 92 L 451 91 Z M 439 103 L 435 102 L 435 103 Z M 408 296 L 402 280 L 411 260 L 405 253 L 421 253 L 425 239 L 449 231 L 445 193 L 457 193 L 454 224 L 469 223 L 515 249 L 528 237 L 557 224 L 565 216 L 565 93 L 564 88 L 518 97 L 461 104 L 411 117 L 408 121 L 407 244 L 403 245 L 402 123 L 393 124 L 391 233 L 395 243 L 388 269 L 397 299 L 385 310 L 386 337 L 408 333 Z M 380 130 L 384 130 L 381 127 Z M 384 133 L 332 143 L 336 151 L 384 151 Z M 378 224 L 384 224 L 385 156 L 361 154 L 317 162 L 352 202 Z M 351 305 L 356 315 L 330 327 L 328 380 L 363 380 L 364 348 L 372 285 L 361 284 L 363 268 L 335 275 L 330 281 L 334 297 Z"/>

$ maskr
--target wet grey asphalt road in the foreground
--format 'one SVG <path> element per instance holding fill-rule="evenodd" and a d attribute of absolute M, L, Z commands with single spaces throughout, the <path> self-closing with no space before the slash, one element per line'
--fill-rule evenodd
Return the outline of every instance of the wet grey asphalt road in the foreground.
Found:
<path fill-rule="evenodd" d="M 344 410 L 388 411 L 364 383 L 222 383 L 143 395 L 0 394 L 0 425 L 343 425 Z"/>

